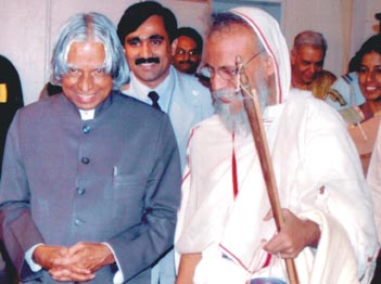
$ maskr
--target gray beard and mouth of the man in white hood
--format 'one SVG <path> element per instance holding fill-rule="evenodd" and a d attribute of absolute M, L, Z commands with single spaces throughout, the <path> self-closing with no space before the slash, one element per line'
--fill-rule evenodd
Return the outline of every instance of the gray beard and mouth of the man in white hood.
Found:
<path fill-rule="evenodd" d="M 236 134 L 251 133 L 246 111 L 243 106 L 243 96 L 234 90 L 218 90 L 213 92 L 213 106 L 226 129 Z"/>

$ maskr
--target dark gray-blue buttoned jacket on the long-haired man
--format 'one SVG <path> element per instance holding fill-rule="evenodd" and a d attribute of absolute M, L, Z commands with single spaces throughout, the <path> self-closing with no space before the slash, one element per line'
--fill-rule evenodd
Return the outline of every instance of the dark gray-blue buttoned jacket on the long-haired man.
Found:
<path fill-rule="evenodd" d="M 22 270 L 33 245 L 106 242 L 126 283 L 150 283 L 150 266 L 174 242 L 180 182 L 163 112 L 117 92 L 90 120 L 62 93 L 29 104 L 15 115 L 4 152 L 5 247 L 24 280 L 48 284 L 55 282 L 46 270 Z M 90 282 L 113 283 L 114 269 L 103 267 Z"/>

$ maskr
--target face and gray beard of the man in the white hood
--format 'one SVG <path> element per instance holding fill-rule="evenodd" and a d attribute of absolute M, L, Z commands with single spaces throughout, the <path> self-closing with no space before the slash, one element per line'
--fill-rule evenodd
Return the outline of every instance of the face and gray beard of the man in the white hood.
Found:
<path fill-rule="evenodd" d="M 236 60 L 239 55 L 252 88 L 263 86 L 267 89 L 266 78 L 269 69 L 261 56 L 265 55 L 256 44 L 256 36 L 247 27 L 232 25 L 227 30 L 215 31 L 205 43 L 203 68 L 208 69 L 211 89 L 216 114 L 229 131 L 250 133 L 243 96 L 239 88 L 239 73 Z"/>

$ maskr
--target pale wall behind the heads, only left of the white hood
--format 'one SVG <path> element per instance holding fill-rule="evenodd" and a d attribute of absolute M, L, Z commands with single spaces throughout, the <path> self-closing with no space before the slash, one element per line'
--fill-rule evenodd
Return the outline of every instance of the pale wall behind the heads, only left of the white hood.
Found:
<path fill-rule="evenodd" d="M 51 49 L 62 23 L 77 12 L 101 12 L 115 25 L 135 0 L 0 0 L 0 53 L 16 66 L 24 92 L 24 102 L 38 99 L 49 80 Z M 179 26 L 189 25 L 204 31 L 203 18 L 208 15 L 206 2 L 181 0 L 160 1 L 170 8 Z"/>

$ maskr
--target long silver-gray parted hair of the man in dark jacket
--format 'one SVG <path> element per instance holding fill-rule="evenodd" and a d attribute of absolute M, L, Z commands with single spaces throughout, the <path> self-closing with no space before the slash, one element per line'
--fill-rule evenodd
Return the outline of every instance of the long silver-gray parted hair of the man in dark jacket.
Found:
<path fill-rule="evenodd" d="M 51 60 L 51 80 L 61 85 L 67 73 L 67 54 L 73 42 L 93 40 L 104 47 L 105 70 L 113 78 L 113 89 L 128 81 L 129 68 L 114 24 L 100 13 L 79 13 L 61 28 Z"/>

